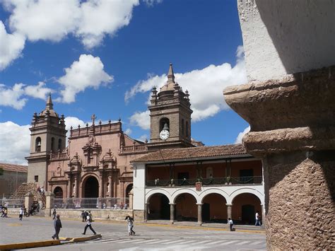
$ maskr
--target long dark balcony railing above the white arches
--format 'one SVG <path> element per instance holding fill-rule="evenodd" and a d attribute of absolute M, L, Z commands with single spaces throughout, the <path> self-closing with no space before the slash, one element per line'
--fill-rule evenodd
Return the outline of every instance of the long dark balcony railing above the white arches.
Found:
<path fill-rule="evenodd" d="M 182 180 L 147 180 L 146 187 L 183 187 L 194 186 L 197 181 L 202 182 L 203 186 L 211 185 L 260 185 L 261 176 L 245 177 L 212 177 L 206 179 L 182 179 Z"/>

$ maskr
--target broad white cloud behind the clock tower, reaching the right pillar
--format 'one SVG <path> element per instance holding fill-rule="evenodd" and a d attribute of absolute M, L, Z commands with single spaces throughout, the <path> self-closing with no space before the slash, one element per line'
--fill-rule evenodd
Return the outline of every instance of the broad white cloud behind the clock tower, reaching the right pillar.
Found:
<path fill-rule="evenodd" d="M 194 110 L 192 114 L 194 122 L 212 117 L 221 110 L 230 109 L 224 101 L 223 89 L 227 86 L 247 83 L 242 46 L 237 47 L 236 54 L 237 63 L 234 67 L 228 63 L 218 66 L 211 64 L 201 70 L 175 74 L 175 80 L 180 83 L 183 90 L 189 91 L 192 110 Z M 124 100 L 128 102 L 136 93 L 151 91 L 153 86 L 158 86 L 159 91 L 166 80 L 166 74 L 148 75 L 147 80 L 139 81 L 130 91 L 127 91 Z M 140 119 L 139 112 L 135 115 L 134 119 Z"/>

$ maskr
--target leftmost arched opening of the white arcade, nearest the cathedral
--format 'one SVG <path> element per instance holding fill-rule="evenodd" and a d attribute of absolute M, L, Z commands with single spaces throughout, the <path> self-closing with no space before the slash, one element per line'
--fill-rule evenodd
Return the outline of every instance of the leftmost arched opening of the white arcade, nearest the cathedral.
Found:
<path fill-rule="evenodd" d="M 149 220 L 169 220 L 170 204 L 165 194 L 153 194 L 149 199 Z"/>

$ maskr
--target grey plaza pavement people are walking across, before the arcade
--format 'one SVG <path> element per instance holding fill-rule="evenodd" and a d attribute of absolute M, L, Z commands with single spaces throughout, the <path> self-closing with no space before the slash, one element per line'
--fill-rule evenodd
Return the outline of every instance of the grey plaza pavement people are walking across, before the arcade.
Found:
<path fill-rule="evenodd" d="M 30 216 L 0 218 L 0 244 L 52 240 L 52 218 Z M 79 219 L 62 219 L 59 237 L 82 237 L 86 223 Z M 102 238 L 84 243 L 72 243 L 29 250 L 266 250 L 263 230 L 228 231 L 227 228 L 196 227 L 152 223 L 136 223 L 136 235 L 129 236 L 126 222 L 95 221 L 93 228 Z M 237 226 L 238 227 L 238 226 Z M 257 229 L 257 228 L 254 228 Z M 88 229 L 87 235 L 93 235 Z"/>

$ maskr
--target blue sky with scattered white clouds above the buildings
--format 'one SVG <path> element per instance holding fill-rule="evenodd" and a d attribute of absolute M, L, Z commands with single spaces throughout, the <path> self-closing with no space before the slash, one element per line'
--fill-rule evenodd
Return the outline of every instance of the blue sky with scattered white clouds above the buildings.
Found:
<path fill-rule="evenodd" d="M 247 83 L 235 0 L 0 0 L 0 162 L 27 164 L 30 123 L 52 93 L 66 128 L 122 119 L 150 141 L 153 86 L 189 91 L 192 138 L 235 144 L 249 124 L 223 89 Z"/>

